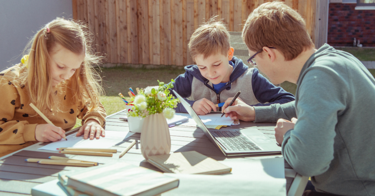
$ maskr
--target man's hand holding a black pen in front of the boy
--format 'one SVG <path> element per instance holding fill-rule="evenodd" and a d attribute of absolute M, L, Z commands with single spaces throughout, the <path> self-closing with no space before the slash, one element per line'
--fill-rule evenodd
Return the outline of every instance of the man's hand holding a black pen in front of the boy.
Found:
<path fill-rule="evenodd" d="M 229 104 L 232 102 L 233 97 L 228 98 L 222 108 L 222 112 L 225 113 L 225 117 L 230 117 L 233 120 L 243 120 L 243 121 L 254 121 L 255 120 L 255 110 L 254 107 L 247 105 L 240 98 L 237 98 L 232 106 Z"/>

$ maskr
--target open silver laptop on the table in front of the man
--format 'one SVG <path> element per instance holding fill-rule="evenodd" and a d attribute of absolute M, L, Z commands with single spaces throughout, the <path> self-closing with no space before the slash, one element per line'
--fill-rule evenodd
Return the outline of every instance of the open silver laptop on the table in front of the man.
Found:
<path fill-rule="evenodd" d="M 208 130 L 190 104 L 176 91 L 172 91 L 175 96 L 180 99 L 182 105 L 198 127 L 203 131 L 204 135 L 206 135 L 225 156 L 281 153 L 281 147 L 270 138 L 267 138 L 258 129 Z"/>

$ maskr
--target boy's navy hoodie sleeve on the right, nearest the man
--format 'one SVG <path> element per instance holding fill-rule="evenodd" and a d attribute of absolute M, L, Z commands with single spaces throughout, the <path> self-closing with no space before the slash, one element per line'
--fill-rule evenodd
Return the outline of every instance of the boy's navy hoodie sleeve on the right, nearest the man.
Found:
<path fill-rule="evenodd" d="M 264 78 L 264 76 L 258 72 L 258 69 L 254 69 L 251 84 L 255 98 L 260 102 L 253 106 L 269 106 L 274 103 L 283 104 L 294 101 L 295 99 L 293 94 L 288 93 L 281 87 L 276 87 Z"/>

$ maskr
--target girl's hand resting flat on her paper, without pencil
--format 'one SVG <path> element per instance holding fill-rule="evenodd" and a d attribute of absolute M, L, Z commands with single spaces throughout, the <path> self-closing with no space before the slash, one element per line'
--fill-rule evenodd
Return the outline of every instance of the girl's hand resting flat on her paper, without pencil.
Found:
<path fill-rule="evenodd" d="M 90 139 L 94 139 L 94 137 L 96 139 L 99 139 L 100 136 L 105 137 L 103 127 L 100 126 L 98 121 L 93 119 L 86 121 L 86 123 L 83 126 L 81 126 L 80 130 L 78 130 L 77 136 L 81 136 L 82 134 L 84 134 L 84 139 L 89 138 L 89 135 Z"/>

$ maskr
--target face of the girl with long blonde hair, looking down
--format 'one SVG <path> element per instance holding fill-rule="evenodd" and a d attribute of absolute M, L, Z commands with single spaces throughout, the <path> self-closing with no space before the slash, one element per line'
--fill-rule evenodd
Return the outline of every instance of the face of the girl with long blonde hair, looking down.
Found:
<path fill-rule="evenodd" d="M 56 44 L 50 57 L 49 75 L 51 76 L 52 86 L 56 86 L 60 82 L 71 78 L 74 72 L 81 67 L 85 53 L 78 55 L 62 45 Z"/>

